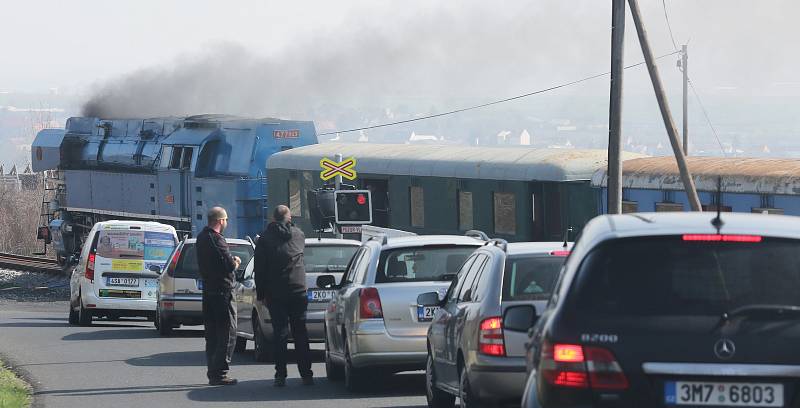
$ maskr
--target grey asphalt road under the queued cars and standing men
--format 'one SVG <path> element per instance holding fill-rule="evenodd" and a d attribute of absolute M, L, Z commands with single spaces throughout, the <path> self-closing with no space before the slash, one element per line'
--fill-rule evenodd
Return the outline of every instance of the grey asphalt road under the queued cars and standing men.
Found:
<path fill-rule="evenodd" d="M 0 302 L 0 355 L 35 388 L 35 404 L 55 407 L 424 407 L 424 373 L 378 377 L 352 394 L 330 383 L 321 345 L 314 346 L 317 384 L 303 386 L 296 366 L 286 388 L 272 387 L 272 365 L 234 356 L 239 384 L 206 385 L 202 330 L 161 338 L 144 320 L 67 324 L 66 302 Z"/>

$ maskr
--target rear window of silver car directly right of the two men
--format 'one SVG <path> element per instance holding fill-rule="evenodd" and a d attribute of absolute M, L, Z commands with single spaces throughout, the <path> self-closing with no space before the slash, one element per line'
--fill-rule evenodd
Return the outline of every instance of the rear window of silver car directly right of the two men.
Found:
<path fill-rule="evenodd" d="M 471 245 L 438 245 L 384 250 L 375 282 L 449 281 L 475 249 Z"/>

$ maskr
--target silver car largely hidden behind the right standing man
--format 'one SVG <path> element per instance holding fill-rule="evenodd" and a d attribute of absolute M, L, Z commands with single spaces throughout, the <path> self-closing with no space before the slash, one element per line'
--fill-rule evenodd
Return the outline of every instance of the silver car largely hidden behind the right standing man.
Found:
<path fill-rule="evenodd" d="M 310 342 L 321 343 L 325 339 L 323 314 L 335 291 L 318 288 L 317 277 L 332 275 L 339 279 L 347 268 L 353 254 L 361 246 L 359 241 L 335 238 L 307 238 L 303 261 L 306 267 L 308 287 L 308 310 L 306 327 Z M 248 340 L 254 343 L 256 361 L 272 359 L 272 319 L 267 306 L 256 298 L 256 286 L 252 272 L 248 272 L 236 292 L 238 307 L 237 350 L 243 351 Z M 291 338 L 290 338 L 291 340 Z"/>

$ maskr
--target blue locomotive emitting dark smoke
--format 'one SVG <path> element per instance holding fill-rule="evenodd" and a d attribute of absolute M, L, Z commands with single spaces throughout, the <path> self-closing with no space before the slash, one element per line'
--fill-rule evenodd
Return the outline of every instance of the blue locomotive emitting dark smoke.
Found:
<path fill-rule="evenodd" d="M 153 220 L 195 235 L 216 205 L 228 210 L 227 236 L 255 236 L 269 214 L 267 159 L 315 143 L 309 121 L 70 118 L 63 130 L 39 132 L 31 148 L 33 171 L 47 174 L 49 229 L 40 236 L 63 261 L 95 222 Z"/>

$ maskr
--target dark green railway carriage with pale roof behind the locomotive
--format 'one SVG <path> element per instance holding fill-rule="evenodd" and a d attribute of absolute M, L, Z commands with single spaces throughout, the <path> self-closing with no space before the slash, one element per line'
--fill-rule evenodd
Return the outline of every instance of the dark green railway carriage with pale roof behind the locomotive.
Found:
<path fill-rule="evenodd" d="M 372 192 L 373 223 L 419 234 L 479 229 L 508 241 L 551 241 L 598 214 L 592 174 L 605 150 L 325 143 L 270 157 L 268 205 L 287 204 L 313 234 L 306 191 L 322 187 L 320 160 L 356 160 L 345 183 Z M 633 155 L 627 155 L 633 157 Z M 626 157 L 626 158 L 627 158 Z M 574 235 L 573 235 L 574 238 Z"/>

